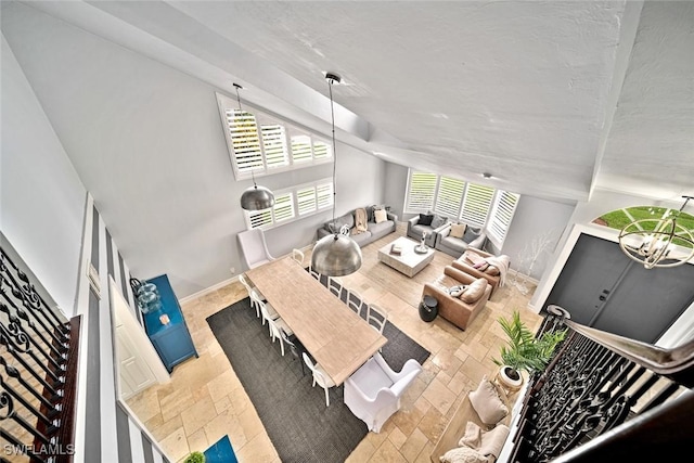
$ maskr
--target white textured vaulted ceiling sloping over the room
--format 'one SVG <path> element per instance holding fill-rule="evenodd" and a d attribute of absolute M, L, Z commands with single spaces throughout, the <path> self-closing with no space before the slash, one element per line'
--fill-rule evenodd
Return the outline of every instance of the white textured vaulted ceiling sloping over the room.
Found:
<path fill-rule="evenodd" d="M 30 2 L 388 162 L 558 201 L 694 194 L 694 2 Z M 484 180 L 483 172 L 492 173 Z"/>

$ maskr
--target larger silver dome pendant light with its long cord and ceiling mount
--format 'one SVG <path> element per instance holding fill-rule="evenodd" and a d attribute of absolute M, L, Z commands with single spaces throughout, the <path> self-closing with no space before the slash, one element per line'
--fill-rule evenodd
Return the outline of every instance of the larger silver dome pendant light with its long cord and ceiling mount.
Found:
<path fill-rule="evenodd" d="M 337 151 L 335 142 L 335 111 L 333 108 L 333 85 L 340 82 L 340 77 L 333 73 L 325 73 L 327 91 L 330 93 L 330 113 L 333 128 L 333 234 L 320 239 L 311 254 L 311 269 L 327 276 L 344 276 L 356 272 L 361 267 L 361 249 L 348 235 L 335 229 L 335 203 L 337 202 L 336 165 Z"/>

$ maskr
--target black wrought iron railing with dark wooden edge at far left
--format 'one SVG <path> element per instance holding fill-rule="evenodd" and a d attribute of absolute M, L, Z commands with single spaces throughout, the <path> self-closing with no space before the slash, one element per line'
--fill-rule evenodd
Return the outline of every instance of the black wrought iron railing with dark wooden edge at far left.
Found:
<path fill-rule="evenodd" d="M 69 462 L 79 318 L 66 321 L 49 307 L 27 273 L 1 254 L 0 460 Z"/>

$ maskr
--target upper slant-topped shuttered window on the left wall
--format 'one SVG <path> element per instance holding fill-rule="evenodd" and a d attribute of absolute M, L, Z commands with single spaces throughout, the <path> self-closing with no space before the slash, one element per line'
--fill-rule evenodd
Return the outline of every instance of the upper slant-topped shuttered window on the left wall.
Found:
<path fill-rule="evenodd" d="M 327 139 L 292 126 L 260 111 L 239 110 L 239 103 L 217 93 L 236 180 L 329 163 L 333 158 Z"/>

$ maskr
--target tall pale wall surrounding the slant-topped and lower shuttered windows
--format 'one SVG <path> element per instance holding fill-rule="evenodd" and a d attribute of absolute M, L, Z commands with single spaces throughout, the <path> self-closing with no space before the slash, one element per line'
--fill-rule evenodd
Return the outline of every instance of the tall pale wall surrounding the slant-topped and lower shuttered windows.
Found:
<path fill-rule="evenodd" d="M 185 297 L 245 269 L 235 236 L 252 182 L 232 172 L 215 97 L 222 90 L 25 4 L 3 9 L 3 31 L 134 276 L 168 273 Z M 344 144 L 337 156 L 336 213 L 381 202 L 384 163 Z M 259 183 L 331 176 L 322 165 Z M 270 230 L 270 252 L 310 244 L 329 218 Z"/>

